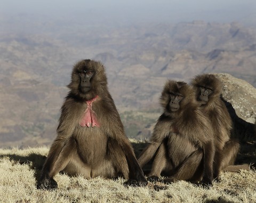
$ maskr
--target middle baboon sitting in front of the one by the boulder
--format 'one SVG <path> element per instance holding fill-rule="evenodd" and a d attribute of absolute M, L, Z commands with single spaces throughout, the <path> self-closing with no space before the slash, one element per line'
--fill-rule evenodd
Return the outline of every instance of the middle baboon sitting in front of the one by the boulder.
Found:
<path fill-rule="evenodd" d="M 141 152 L 143 167 L 154 157 L 148 180 L 164 183 L 187 180 L 212 185 L 215 153 L 212 128 L 196 101 L 193 87 L 168 80 L 160 98 L 164 109 L 158 118 L 150 143 Z"/>

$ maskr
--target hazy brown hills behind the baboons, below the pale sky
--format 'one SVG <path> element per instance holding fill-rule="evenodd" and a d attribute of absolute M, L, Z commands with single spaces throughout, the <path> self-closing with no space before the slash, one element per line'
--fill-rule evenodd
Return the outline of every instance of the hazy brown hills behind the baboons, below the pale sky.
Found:
<path fill-rule="evenodd" d="M 203 21 L 119 28 L 32 22 L 28 18 L 22 29 L 18 20 L 10 27 L 0 19 L 6 28 L 0 31 L 0 147 L 52 142 L 71 68 L 80 59 L 105 64 L 132 137 L 150 135 L 167 78 L 188 82 L 203 72 L 227 72 L 256 87 L 256 28 Z"/>

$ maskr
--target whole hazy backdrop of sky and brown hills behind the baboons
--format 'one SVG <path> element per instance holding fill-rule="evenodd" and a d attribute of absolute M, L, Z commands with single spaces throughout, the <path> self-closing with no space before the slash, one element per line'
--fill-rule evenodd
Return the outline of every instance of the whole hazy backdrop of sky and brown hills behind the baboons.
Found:
<path fill-rule="evenodd" d="M 51 144 L 81 59 L 105 64 L 126 134 L 143 140 L 166 79 L 226 72 L 256 87 L 256 1 L 2 0 L 0 147 Z"/>

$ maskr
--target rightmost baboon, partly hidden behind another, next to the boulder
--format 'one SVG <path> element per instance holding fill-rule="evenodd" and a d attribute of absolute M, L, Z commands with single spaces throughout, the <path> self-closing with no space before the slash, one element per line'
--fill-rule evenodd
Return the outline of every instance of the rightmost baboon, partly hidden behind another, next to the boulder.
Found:
<path fill-rule="evenodd" d="M 197 101 L 202 105 L 213 127 L 213 178 L 219 180 L 220 170 L 234 165 L 239 151 L 239 142 L 230 139 L 232 121 L 225 103 L 221 100 L 222 83 L 212 74 L 203 74 L 196 76 L 191 84 L 195 88 Z"/>

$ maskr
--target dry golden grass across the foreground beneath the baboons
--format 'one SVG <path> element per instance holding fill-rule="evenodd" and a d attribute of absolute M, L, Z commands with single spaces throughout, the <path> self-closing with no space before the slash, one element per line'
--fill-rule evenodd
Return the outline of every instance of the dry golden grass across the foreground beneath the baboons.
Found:
<path fill-rule="evenodd" d="M 186 181 L 167 185 L 155 191 L 125 188 L 123 178 L 89 180 L 81 176 L 58 174 L 59 188 L 54 191 L 36 189 L 38 169 L 42 167 L 48 148 L 0 149 L 0 202 L 256 202 L 256 172 L 222 173 L 221 182 L 204 189 Z"/>

